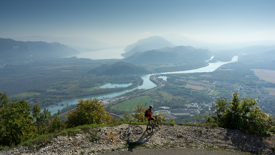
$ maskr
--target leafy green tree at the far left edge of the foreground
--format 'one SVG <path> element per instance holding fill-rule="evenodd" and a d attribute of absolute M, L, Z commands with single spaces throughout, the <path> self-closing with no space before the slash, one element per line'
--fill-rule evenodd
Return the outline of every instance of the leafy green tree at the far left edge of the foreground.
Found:
<path fill-rule="evenodd" d="M 34 135 L 31 122 L 31 106 L 24 100 L 10 102 L 0 93 L 0 145 L 18 145 Z"/>

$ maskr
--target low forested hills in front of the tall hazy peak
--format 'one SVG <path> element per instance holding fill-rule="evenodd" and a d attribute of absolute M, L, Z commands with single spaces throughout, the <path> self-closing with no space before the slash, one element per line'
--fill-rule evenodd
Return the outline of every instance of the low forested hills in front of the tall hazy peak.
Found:
<path fill-rule="evenodd" d="M 137 52 L 134 55 L 124 58 L 123 61 L 133 64 L 153 64 L 154 62 L 185 63 L 186 61 L 202 62 L 210 59 L 211 56 L 212 53 L 207 49 L 196 49 L 191 46 L 178 46 Z"/>

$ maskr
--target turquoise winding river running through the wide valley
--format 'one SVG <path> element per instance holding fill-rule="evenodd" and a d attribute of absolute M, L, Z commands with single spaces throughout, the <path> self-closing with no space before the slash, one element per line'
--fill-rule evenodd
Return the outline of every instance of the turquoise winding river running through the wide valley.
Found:
<path fill-rule="evenodd" d="M 228 61 L 228 62 L 212 62 L 212 63 L 209 63 L 208 66 L 205 66 L 205 67 L 202 67 L 202 68 L 198 68 L 198 69 L 194 69 L 194 70 L 184 70 L 184 71 L 176 71 L 176 72 L 164 72 L 164 73 L 160 73 L 160 74 L 182 74 L 182 73 L 213 72 L 218 67 L 220 67 L 220 66 L 222 66 L 224 64 L 231 63 L 231 62 L 237 62 L 237 61 L 238 61 L 238 55 L 234 56 L 232 58 L 232 60 Z M 146 75 L 143 74 L 143 75 L 140 75 L 141 78 L 143 79 L 143 84 L 140 85 L 140 86 L 138 86 L 138 87 L 135 87 L 135 88 L 132 88 L 132 89 L 127 89 L 127 90 L 122 90 L 122 91 L 118 91 L 118 92 L 113 92 L 113 93 L 106 93 L 106 94 L 102 94 L 102 95 L 83 97 L 81 99 L 87 100 L 90 97 L 97 97 L 98 99 L 112 98 L 112 97 L 116 97 L 116 96 L 122 95 L 124 93 L 130 92 L 130 91 L 133 91 L 135 89 L 151 89 L 151 88 L 154 88 L 157 85 L 154 84 L 152 81 L 150 81 L 150 76 L 151 75 L 154 75 L 154 74 L 146 74 Z M 79 99 L 71 99 L 71 100 L 61 101 L 61 102 L 58 102 L 58 103 L 68 103 L 69 102 L 69 104 L 76 104 L 78 102 L 78 100 Z M 46 109 L 49 109 L 49 111 L 52 114 L 57 113 L 58 109 L 61 110 L 63 108 L 65 108 L 65 106 L 63 106 L 63 105 L 52 105 L 52 106 L 46 107 Z"/>

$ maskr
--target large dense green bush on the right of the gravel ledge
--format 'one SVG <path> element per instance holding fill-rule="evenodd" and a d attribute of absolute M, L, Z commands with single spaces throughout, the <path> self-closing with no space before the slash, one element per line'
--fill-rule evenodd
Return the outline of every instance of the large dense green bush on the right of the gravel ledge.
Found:
<path fill-rule="evenodd" d="M 207 116 L 207 123 L 250 134 L 275 133 L 275 118 L 255 106 L 257 100 L 240 99 L 235 91 L 230 101 L 227 101 L 227 98 L 218 98 L 216 102 L 216 106 L 213 107 L 216 111 Z"/>

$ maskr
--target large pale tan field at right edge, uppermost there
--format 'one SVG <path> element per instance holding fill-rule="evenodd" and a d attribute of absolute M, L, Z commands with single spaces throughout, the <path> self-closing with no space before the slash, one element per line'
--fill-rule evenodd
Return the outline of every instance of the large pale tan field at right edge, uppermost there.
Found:
<path fill-rule="evenodd" d="M 251 69 L 254 74 L 260 78 L 260 80 L 265 80 L 268 82 L 275 83 L 275 70 L 265 70 L 265 69 Z"/>

